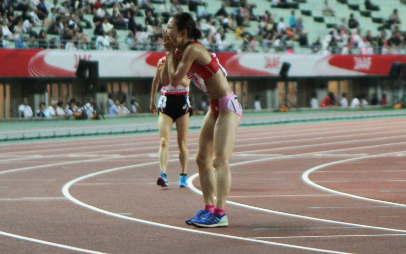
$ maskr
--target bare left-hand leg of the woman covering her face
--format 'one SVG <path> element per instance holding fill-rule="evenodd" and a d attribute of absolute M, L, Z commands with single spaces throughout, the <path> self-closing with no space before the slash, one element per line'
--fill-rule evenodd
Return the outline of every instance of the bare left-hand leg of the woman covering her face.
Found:
<path fill-rule="evenodd" d="M 209 110 L 201 125 L 196 162 L 205 205 L 214 205 L 216 178 L 213 168 L 213 131 L 216 119 Z"/>

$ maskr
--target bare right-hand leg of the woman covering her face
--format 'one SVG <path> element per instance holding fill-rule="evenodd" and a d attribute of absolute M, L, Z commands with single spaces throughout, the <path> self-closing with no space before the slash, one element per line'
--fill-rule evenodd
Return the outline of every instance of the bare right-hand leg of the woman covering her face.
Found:
<path fill-rule="evenodd" d="M 216 172 L 216 208 L 224 209 L 231 188 L 229 161 L 241 117 L 230 110 L 221 110 L 214 128 L 214 160 Z"/>

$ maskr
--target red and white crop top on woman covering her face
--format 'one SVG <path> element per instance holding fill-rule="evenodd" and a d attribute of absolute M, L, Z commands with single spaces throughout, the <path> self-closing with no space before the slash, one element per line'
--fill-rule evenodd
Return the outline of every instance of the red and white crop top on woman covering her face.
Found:
<path fill-rule="evenodd" d="M 202 45 L 201 43 L 196 41 L 190 42 L 190 44 L 192 43 L 198 43 Z M 192 66 L 186 74 L 188 79 L 192 80 L 198 88 L 206 93 L 207 87 L 205 84 L 205 80 L 213 77 L 219 69 L 221 69 L 224 76 L 227 76 L 227 71 L 220 65 L 219 59 L 217 58 L 216 54 L 210 51 L 209 53 L 212 56 L 212 60 L 207 65 L 198 65 L 197 63 L 192 63 Z M 182 54 L 180 54 L 180 58 L 182 58 Z"/>

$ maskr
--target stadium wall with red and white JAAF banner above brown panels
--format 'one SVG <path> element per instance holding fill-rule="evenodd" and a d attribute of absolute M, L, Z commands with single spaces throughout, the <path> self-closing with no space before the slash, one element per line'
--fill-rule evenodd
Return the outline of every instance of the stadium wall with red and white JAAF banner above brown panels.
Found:
<path fill-rule="evenodd" d="M 15 110 L 23 97 L 28 98 L 33 110 L 38 108 L 39 102 L 49 104 L 52 99 L 67 102 L 75 97 L 87 101 L 92 96 L 91 90 L 75 75 L 80 59 L 99 62 L 96 92 L 101 109 L 107 109 L 107 94 L 111 93 L 116 98 L 126 99 L 127 104 L 131 98 L 137 99 L 142 112 L 148 112 L 156 63 L 164 54 L 0 49 L 0 110 L 3 112 L 0 117 L 16 117 Z M 330 91 L 337 97 L 347 92 L 349 100 L 359 93 L 369 98 L 374 93 L 379 97 L 386 93 L 392 104 L 404 100 L 402 79 L 391 79 L 388 73 L 392 62 L 406 62 L 406 55 L 218 53 L 217 56 L 244 109 L 252 109 L 257 95 L 262 97 L 262 108 L 278 109 L 286 102 L 286 91 L 290 107 L 309 107 L 315 91 L 319 101 Z M 279 75 L 283 62 L 291 63 L 286 79 Z M 204 98 L 194 86 L 190 96 L 195 108 Z"/>

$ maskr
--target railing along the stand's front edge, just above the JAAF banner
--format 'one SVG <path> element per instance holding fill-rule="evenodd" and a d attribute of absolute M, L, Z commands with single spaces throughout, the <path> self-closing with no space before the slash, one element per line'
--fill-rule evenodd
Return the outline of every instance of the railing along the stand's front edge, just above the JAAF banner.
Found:
<path fill-rule="evenodd" d="M 205 45 L 212 52 L 257 52 L 257 53 L 333 53 L 333 54 L 406 54 L 404 46 L 384 46 L 384 47 L 347 47 L 347 46 L 298 46 L 283 45 L 274 47 L 272 45 L 229 43 L 225 45 L 209 44 Z M 127 43 L 112 42 L 108 45 L 96 41 L 81 40 L 60 40 L 52 39 L 3 39 L 0 40 L 0 48 L 44 48 L 44 49 L 66 49 L 66 50 L 139 50 L 139 51 L 159 51 L 164 52 L 162 43 Z"/>

